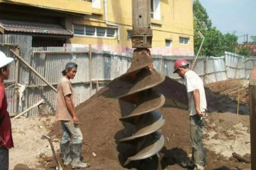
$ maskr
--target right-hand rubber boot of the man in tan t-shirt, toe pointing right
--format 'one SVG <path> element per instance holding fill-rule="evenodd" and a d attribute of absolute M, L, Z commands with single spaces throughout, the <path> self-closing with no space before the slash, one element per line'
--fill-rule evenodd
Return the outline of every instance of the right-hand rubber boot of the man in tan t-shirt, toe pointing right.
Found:
<path fill-rule="evenodd" d="M 90 164 L 88 163 L 83 163 L 80 160 L 81 157 L 81 150 L 82 150 L 82 144 L 72 144 L 70 145 L 71 149 L 71 157 L 72 157 L 72 169 L 76 168 L 87 168 L 90 167 Z"/>

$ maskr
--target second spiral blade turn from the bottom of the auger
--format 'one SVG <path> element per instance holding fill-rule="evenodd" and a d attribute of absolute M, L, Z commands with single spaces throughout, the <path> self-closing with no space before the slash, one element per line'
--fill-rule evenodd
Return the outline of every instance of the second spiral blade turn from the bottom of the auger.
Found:
<path fill-rule="evenodd" d="M 149 135 L 151 133 L 158 131 L 163 126 L 163 124 L 165 124 L 165 119 L 163 118 L 163 115 L 159 112 L 153 111 L 144 114 L 137 121 L 137 132 L 135 132 L 134 135 L 120 139 L 119 141 L 129 142 L 130 140 Z"/>

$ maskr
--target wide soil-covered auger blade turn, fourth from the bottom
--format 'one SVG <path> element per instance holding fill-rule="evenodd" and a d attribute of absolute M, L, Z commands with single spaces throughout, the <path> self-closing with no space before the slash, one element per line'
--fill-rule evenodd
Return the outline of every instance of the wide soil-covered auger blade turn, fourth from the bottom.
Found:
<path fill-rule="evenodd" d="M 133 81 L 129 78 L 116 78 L 108 88 L 117 98 L 122 98 L 139 91 L 152 88 L 165 80 L 165 75 L 157 73 L 155 70 L 143 69 L 137 74 L 137 80 Z"/>

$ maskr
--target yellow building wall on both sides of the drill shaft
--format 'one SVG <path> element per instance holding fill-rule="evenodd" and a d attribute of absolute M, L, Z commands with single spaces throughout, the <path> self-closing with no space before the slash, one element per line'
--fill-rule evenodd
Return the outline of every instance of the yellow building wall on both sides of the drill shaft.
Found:
<path fill-rule="evenodd" d="M 131 52 L 131 40 L 127 30 L 132 29 L 132 6 L 127 0 L 108 0 L 108 20 L 120 24 L 120 41 L 113 38 L 99 38 L 74 35 L 67 43 L 73 46 L 87 46 L 117 52 Z M 152 54 L 194 55 L 192 0 L 160 0 L 161 19 L 151 19 L 153 29 Z M 66 28 L 73 30 L 73 24 L 108 27 L 104 22 L 104 0 L 101 9 L 93 8 L 93 13 L 102 14 L 97 18 L 67 18 Z M 116 28 L 116 27 L 109 27 Z M 180 44 L 179 37 L 189 38 L 189 44 Z M 172 47 L 165 47 L 165 39 L 172 40 Z"/>

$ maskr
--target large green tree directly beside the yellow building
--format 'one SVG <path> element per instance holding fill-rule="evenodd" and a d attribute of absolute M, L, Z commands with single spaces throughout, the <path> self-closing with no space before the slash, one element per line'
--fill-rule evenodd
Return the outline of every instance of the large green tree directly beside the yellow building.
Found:
<path fill-rule="evenodd" d="M 222 56 L 225 51 L 235 52 L 238 37 L 235 34 L 222 34 L 216 27 L 212 27 L 212 21 L 209 18 L 206 9 L 199 0 L 193 2 L 194 17 L 194 51 L 198 53 L 202 38 L 200 31 L 205 37 L 202 49 L 199 55 Z"/>

